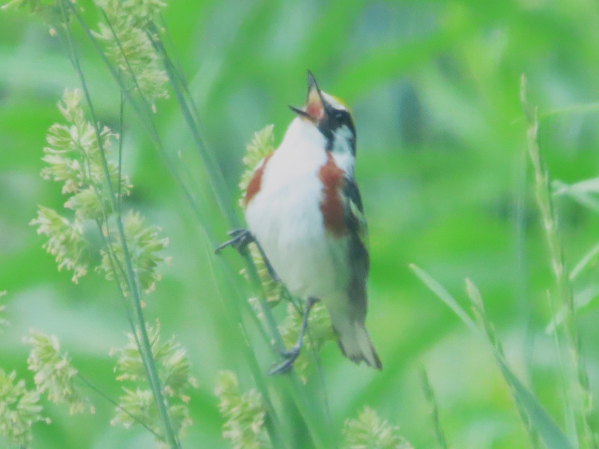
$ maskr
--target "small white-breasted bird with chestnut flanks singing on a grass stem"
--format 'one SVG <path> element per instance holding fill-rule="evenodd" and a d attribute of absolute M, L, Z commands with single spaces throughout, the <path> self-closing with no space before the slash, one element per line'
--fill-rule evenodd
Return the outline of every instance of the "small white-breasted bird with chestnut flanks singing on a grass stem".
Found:
<path fill-rule="evenodd" d="M 297 344 L 271 374 L 284 374 L 301 350 L 313 305 L 322 301 L 341 353 L 382 369 L 365 327 L 368 229 L 354 171 L 356 129 L 344 102 L 322 92 L 308 70 L 308 91 L 276 150 L 258 163 L 244 196 L 247 229 L 220 245 L 255 242 L 268 272 L 305 300 Z"/>

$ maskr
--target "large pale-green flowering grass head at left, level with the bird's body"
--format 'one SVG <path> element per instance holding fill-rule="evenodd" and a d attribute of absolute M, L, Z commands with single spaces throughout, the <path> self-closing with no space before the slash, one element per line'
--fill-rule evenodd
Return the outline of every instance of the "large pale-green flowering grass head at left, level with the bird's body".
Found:
<path fill-rule="evenodd" d="M 108 181 L 103 159 L 116 135 L 104 127 L 100 133 L 101 142 L 98 142 L 95 127 L 84 117 L 81 95 L 78 89 L 65 90 L 58 107 L 66 124 L 56 123 L 50 127 L 49 146 L 44 148 L 43 157 L 47 166 L 41 171 L 44 179 L 62 183 L 62 193 L 69 196 L 64 206 L 74 211 L 74 217 L 69 220 L 53 209 L 40 206 L 31 225 L 38 226 L 38 233 L 48 237 L 43 247 L 55 256 L 59 270 L 66 268 L 73 272 L 72 281 L 76 283 L 89 269 L 90 248 L 83 233 L 84 223 L 92 220 L 101 224 L 107 246 L 100 250 L 102 258 L 96 271 L 109 280 L 118 278 L 123 292 L 127 293 L 129 283 L 123 271 L 115 270 L 125 266 L 126 261 L 123 242 L 115 226 L 111 225 L 111 217 L 116 213 L 111 195 L 120 192 L 120 198 L 116 198 L 116 202 L 120 202 L 123 196 L 129 195 L 132 185 L 129 178 L 120 173 L 117 163 L 111 160 L 106 161 Z M 139 213 L 129 211 L 123 217 L 128 257 L 141 290 L 149 293 L 161 278 L 159 263 L 168 262 L 167 257 L 158 254 L 167 247 L 168 239 L 159 237 L 161 229 L 158 226 L 144 226 L 143 223 Z M 113 262 L 117 263 L 116 267 Z"/>

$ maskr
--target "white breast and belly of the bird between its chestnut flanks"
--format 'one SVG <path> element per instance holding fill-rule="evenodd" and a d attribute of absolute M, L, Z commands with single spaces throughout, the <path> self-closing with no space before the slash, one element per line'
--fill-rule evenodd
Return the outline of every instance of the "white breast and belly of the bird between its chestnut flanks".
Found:
<path fill-rule="evenodd" d="M 289 126 L 246 208 L 246 222 L 294 295 L 325 298 L 347 285 L 347 241 L 327 235 L 319 168 L 325 138 L 302 119 Z"/>

